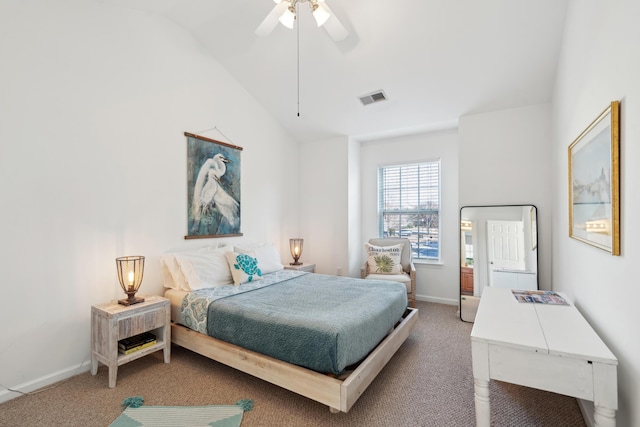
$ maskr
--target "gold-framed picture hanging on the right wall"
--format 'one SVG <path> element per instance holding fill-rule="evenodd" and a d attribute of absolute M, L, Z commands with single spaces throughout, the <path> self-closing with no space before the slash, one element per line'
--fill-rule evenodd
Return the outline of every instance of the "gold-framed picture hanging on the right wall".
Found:
<path fill-rule="evenodd" d="M 569 146 L 569 236 L 620 255 L 620 103 Z"/>

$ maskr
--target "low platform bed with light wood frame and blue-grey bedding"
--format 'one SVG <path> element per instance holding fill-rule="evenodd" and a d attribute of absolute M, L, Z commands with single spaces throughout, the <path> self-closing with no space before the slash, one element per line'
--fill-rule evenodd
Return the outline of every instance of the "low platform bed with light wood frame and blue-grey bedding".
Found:
<path fill-rule="evenodd" d="M 206 256 L 238 256 L 239 249 L 218 248 Z M 395 282 L 284 270 L 255 247 L 244 253 L 255 256 L 265 272 L 258 277 L 254 271 L 253 280 L 237 285 L 218 277 L 226 274 L 219 257 L 214 275 L 212 265 L 174 257 L 174 272 L 180 270 L 195 286 L 174 284 L 165 293 L 172 307 L 172 342 L 332 412 L 347 412 L 417 321 L 418 311 L 407 308 L 406 289 Z M 273 253 L 271 258 L 276 259 Z M 170 263 L 163 257 L 163 275 L 171 276 Z M 228 265 L 233 270 L 231 260 Z M 193 270 L 201 279 L 206 270 L 209 277 L 198 283 Z"/>

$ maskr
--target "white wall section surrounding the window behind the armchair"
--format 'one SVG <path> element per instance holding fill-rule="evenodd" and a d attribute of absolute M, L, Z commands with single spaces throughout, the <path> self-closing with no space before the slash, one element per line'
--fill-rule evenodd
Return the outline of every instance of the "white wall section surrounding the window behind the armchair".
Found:
<path fill-rule="evenodd" d="M 378 235 L 378 167 L 383 165 L 441 161 L 440 248 L 441 263 L 416 263 L 416 299 L 458 304 L 460 263 L 458 244 L 458 132 L 457 129 L 363 142 L 362 244 Z"/>

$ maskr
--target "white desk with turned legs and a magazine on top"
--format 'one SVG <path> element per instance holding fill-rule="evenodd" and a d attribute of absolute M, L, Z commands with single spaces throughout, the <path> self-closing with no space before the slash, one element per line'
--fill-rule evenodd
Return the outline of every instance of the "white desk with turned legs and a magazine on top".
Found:
<path fill-rule="evenodd" d="M 615 426 L 616 357 L 575 306 L 521 303 L 485 287 L 471 330 L 476 422 L 490 425 L 489 380 L 594 402 L 596 426 Z"/>

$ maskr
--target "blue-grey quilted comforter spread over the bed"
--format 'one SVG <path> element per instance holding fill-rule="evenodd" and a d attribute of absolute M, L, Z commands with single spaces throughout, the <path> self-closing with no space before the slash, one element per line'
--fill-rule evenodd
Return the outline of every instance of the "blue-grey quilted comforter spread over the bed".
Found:
<path fill-rule="evenodd" d="M 314 371 L 339 374 L 364 359 L 406 307 L 406 288 L 396 282 L 301 274 L 210 302 L 207 333 Z"/>

